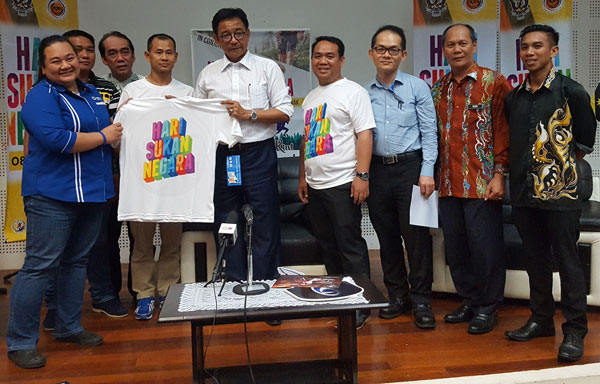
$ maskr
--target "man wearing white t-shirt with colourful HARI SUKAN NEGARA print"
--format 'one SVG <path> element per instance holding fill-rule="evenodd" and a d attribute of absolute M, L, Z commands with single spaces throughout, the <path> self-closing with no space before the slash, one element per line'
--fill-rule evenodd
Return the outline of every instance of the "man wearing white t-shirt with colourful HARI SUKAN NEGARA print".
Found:
<path fill-rule="evenodd" d="M 304 99 L 304 140 L 298 195 L 331 275 L 370 275 L 367 243 L 362 238 L 361 204 L 369 196 L 369 165 L 375 120 L 367 91 L 342 77 L 344 44 L 317 37 L 312 68 L 319 87 Z M 357 311 L 361 328 L 369 311 Z"/>

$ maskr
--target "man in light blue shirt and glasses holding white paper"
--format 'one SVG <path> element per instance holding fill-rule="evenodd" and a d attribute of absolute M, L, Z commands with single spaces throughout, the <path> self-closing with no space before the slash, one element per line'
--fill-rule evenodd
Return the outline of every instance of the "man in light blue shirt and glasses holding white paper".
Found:
<path fill-rule="evenodd" d="M 430 305 L 431 236 L 428 228 L 409 224 L 409 211 L 413 185 L 418 185 L 426 198 L 435 189 L 435 108 L 428 85 L 398 71 L 407 56 L 402 28 L 379 28 L 369 56 L 377 76 L 366 86 L 376 123 L 368 204 L 389 294 L 389 306 L 379 317 L 393 319 L 412 306 L 415 325 L 431 329 L 435 328 Z M 403 240 L 410 273 L 404 264 Z"/>

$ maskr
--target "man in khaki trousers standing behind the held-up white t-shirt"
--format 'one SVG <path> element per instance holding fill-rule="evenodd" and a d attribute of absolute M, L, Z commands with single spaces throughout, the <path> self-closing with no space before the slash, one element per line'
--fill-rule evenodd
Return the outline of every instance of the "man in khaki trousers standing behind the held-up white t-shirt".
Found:
<path fill-rule="evenodd" d="M 171 36 L 162 33 L 150 36 L 148 50 L 144 56 L 150 63 L 150 74 L 123 89 L 120 105 L 135 98 L 180 98 L 192 95 L 192 87 L 175 80 L 172 76 L 173 67 L 177 62 L 177 51 L 175 40 Z M 124 126 L 123 129 L 127 127 Z M 152 318 L 155 292 L 158 292 L 161 306 L 169 285 L 179 281 L 182 224 L 160 224 L 161 247 L 156 266 L 152 246 L 155 228 L 156 223 L 130 222 L 135 240 L 131 255 L 131 280 L 138 299 L 135 310 L 135 318 L 138 320 Z"/>

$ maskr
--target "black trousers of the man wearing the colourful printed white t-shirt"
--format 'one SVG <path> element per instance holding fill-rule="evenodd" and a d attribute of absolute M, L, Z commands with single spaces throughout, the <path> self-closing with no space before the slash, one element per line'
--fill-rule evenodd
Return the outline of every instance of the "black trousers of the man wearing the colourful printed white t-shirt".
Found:
<path fill-rule="evenodd" d="M 351 183 L 326 189 L 308 187 L 310 219 L 330 275 L 371 275 L 367 242 L 360 230 L 360 205 L 350 197 Z"/>

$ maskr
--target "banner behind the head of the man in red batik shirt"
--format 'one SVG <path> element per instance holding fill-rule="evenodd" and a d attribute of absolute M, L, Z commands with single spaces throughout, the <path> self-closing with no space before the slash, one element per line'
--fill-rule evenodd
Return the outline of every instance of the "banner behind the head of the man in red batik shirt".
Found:
<path fill-rule="evenodd" d="M 431 87 L 450 71 L 442 51 L 442 33 L 454 23 L 469 24 L 477 35 L 475 61 L 496 68 L 497 7 L 499 0 L 414 0 L 414 75 Z M 411 49 L 413 52 L 411 52 Z"/>

